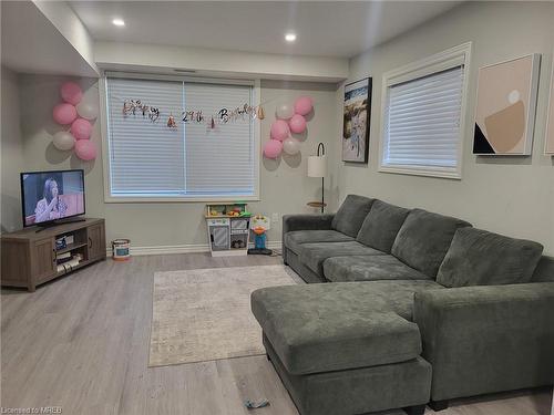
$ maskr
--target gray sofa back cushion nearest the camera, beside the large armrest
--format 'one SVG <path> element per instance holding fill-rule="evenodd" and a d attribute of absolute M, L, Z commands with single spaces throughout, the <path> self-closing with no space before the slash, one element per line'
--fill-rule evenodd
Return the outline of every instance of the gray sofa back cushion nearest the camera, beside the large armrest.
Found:
<path fill-rule="evenodd" d="M 543 246 L 482 229 L 458 229 L 437 282 L 445 287 L 529 282 Z"/>

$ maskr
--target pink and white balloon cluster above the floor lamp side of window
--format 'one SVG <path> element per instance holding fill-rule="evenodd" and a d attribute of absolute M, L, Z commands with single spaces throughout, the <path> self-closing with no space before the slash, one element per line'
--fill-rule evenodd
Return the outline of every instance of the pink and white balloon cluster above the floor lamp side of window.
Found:
<path fill-rule="evenodd" d="M 277 158 L 283 152 L 295 155 L 300 151 L 300 142 L 290 137 L 290 133 L 301 134 L 306 131 L 306 118 L 314 108 L 309 96 L 300 96 L 291 106 L 287 103 L 277 105 L 277 120 L 271 124 L 269 142 L 264 146 L 264 156 Z"/>

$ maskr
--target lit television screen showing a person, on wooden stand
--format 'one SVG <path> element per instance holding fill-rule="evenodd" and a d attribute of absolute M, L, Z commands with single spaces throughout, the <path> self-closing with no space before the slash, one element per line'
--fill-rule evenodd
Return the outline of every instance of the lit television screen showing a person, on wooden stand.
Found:
<path fill-rule="evenodd" d="M 21 174 L 23 226 L 84 215 L 84 172 Z"/>

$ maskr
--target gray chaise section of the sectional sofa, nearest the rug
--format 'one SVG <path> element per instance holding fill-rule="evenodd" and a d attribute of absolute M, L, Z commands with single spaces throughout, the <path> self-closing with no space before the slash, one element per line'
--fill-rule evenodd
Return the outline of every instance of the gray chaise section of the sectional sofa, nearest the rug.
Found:
<path fill-rule="evenodd" d="M 302 415 L 423 413 L 431 366 L 420 356 L 419 329 L 366 286 L 274 287 L 252 295 L 267 354 Z"/>

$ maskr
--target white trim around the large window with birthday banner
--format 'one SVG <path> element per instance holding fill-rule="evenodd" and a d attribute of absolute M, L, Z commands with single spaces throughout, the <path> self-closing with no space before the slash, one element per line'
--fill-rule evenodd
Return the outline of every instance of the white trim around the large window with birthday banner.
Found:
<path fill-rule="evenodd" d="M 101 123 L 101 136 L 102 136 L 102 165 L 104 173 L 104 201 L 106 204 L 136 204 L 136 203 L 216 203 L 216 201 L 259 201 L 259 163 L 260 163 L 260 122 L 258 118 L 254 120 L 254 195 L 252 196 L 219 196 L 219 197 L 207 197 L 207 196 L 195 196 L 195 197 L 184 197 L 184 196 L 171 196 L 171 197 L 125 197 L 125 196 L 112 196 L 111 194 L 111 173 L 110 173 L 110 139 L 107 133 L 107 93 L 106 93 L 106 77 L 126 77 L 126 79 L 150 79 L 157 81 L 187 81 L 196 83 L 216 83 L 226 85 L 253 85 L 253 96 L 252 101 L 254 104 L 260 102 L 260 81 L 244 81 L 244 80 L 220 80 L 220 79 L 201 79 L 201 77 L 187 77 L 187 76 L 173 76 L 173 75 L 151 75 L 151 74 L 136 74 L 136 73 L 104 73 L 99 80 L 99 93 L 100 93 L 100 123 Z"/>

